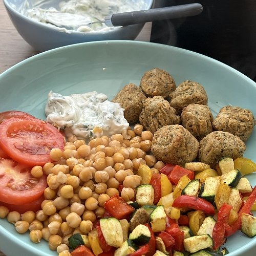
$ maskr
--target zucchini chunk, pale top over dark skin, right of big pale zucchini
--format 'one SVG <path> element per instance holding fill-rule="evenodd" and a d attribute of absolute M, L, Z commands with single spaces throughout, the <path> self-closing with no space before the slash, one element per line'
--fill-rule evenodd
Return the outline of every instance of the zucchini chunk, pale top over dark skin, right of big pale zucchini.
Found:
<path fill-rule="evenodd" d="M 143 245 L 150 242 L 151 232 L 147 226 L 139 224 L 133 231 L 130 233 L 129 239 L 132 240 L 135 244 Z"/>

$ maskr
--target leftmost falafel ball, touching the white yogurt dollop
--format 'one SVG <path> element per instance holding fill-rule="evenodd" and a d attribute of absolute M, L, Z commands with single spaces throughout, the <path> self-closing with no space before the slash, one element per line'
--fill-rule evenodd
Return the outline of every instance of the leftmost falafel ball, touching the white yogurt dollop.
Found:
<path fill-rule="evenodd" d="M 124 118 L 132 124 L 139 120 L 142 102 L 145 99 L 146 96 L 140 88 L 134 83 L 129 83 L 112 99 L 112 102 L 120 104 L 124 109 Z"/>

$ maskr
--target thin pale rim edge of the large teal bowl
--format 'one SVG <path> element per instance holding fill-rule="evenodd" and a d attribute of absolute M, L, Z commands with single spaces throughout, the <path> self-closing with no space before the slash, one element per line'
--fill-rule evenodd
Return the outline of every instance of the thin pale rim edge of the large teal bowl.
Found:
<path fill-rule="evenodd" d="M 174 47 L 174 46 L 166 46 L 166 45 L 156 44 L 156 43 L 153 43 L 153 42 L 131 41 L 131 40 L 104 40 L 104 41 L 82 42 L 80 44 L 63 46 L 63 47 L 55 48 L 55 49 L 52 49 L 52 50 L 48 50 L 46 52 L 39 53 L 37 55 L 34 55 L 34 56 L 29 57 L 29 58 L 27 58 L 23 61 L 18 62 L 16 65 L 12 66 L 11 68 L 7 69 L 2 74 L 0 74 L 0 80 L 3 79 L 6 75 L 8 76 L 12 72 L 15 72 L 15 70 L 18 69 L 20 66 L 26 65 L 27 63 L 30 63 L 30 62 L 32 62 L 36 59 L 40 59 L 41 57 L 45 57 L 47 55 L 51 55 L 51 54 L 54 54 L 54 53 L 57 53 L 57 52 L 59 52 L 59 54 L 60 54 L 63 51 L 66 51 L 66 50 L 69 50 L 69 49 L 72 49 L 72 48 L 74 48 L 74 49 L 77 48 L 79 50 L 81 48 L 87 48 L 87 46 L 90 47 L 91 45 L 101 46 L 101 45 L 106 45 L 106 44 L 123 45 L 123 47 L 125 47 L 125 45 L 134 45 L 134 46 L 141 46 L 141 47 L 153 47 L 153 48 L 157 47 L 157 48 L 161 48 L 161 49 L 173 49 L 174 51 L 184 52 L 184 53 L 188 54 L 191 58 L 200 57 L 202 59 L 206 59 L 207 61 L 214 62 L 215 64 L 220 65 L 221 67 L 232 71 L 236 75 L 239 75 L 241 78 L 245 79 L 246 82 L 250 83 L 256 89 L 256 83 L 253 80 L 251 80 L 246 75 L 242 74 L 240 71 L 237 71 L 236 69 L 234 69 L 234 68 L 232 68 L 232 67 L 226 65 L 225 63 L 223 63 L 221 61 L 218 61 L 216 59 L 210 58 L 210 57 L 205 56 L 205 55 L 200 54 L 200 53 L 196 53 L 196 52 L 189 51 L 189 50 L 186 50 L 186 49 L 181 49 L 181 48 Z M 0 225 L 0 234 L 2 234 L 2 236 L 4 236 L 4 237 L 6 237 L 6 234 L 10 233 L 9 230 L 7 230 L 8 233 L 6 233 L 6 230 L 7 230 L 6 228 L 4 228 L 3 226 Z M 11 234 L 12 234 L 12 237 L 13 237 L 14 234 L 13 233 L 11 233 Z M 17 242 L 19 242 L 19 240 Z M 30 248 L 34 248 L 30 244 L 28 246 L 26 243 L 22 243 L 22 244 L 17 243 L 17 244 L 18 244 L 19 247 L 21 246 L 21 247 L 24 247 L 28 250 L 30 250 Z M 243 245 L 241 248 L 237 249 L 236 251 L 230 252 L 229 254 L 230 254 L 230 256 L 243 255 L 243 252 L 245 250 L 252 249 L 254 246 L 255 246 L 255 239 L 246 243 L 245 245 Z M 42 253 L 42 255 L 45 255 L 45 254 Z M 249 255 L 249 254 L 247 254 L 247 255 Z"/>

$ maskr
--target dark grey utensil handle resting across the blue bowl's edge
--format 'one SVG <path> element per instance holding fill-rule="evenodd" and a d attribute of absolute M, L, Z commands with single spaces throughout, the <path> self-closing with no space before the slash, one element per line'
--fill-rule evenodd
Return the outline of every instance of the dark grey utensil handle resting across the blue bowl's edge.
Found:
<path fill-rule="evenodd" d="M 127 26 L 155 20 L 195 16 L 203 11 L 201 4 L 187 4 L 150 10 L 116 13 L 105 17 L 108 27 Z"/>

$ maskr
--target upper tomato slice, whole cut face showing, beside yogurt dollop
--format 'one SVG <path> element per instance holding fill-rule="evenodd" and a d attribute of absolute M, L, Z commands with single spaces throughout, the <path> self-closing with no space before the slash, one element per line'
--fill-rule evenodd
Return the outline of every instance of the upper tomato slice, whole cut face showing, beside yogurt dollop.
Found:
<path fill-rule="evenodd" d="M 9 118 L 0 125 L 0 147 L 13 160 L 29 166 L 51 162 L 52 148 L 63 150 L 62 134 L 43 120 Z"/>

